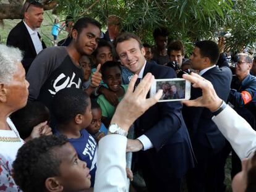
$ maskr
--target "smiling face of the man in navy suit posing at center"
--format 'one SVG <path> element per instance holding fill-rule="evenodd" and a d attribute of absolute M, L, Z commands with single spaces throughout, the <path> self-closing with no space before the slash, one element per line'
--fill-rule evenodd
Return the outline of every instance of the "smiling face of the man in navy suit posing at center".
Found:
<path fill-rule="evenodd" d="M 145 49 L 140 48 L 139 42 L 133 38 L 117 43 L 116 52 L 124 66 L 131 72 L 139 74 L 145 64 Z"/>

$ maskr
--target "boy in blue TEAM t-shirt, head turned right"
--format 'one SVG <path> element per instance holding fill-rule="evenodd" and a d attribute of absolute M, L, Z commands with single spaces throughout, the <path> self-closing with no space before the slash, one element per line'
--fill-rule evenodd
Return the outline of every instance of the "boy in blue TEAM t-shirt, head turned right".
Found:
<path fill-rule="evenodd" d="M 97 159 L 97 143 L 85 130 L 92 122 L 90 98 L 83 90 L 66 88 L 58 91 L 53 98 L 53 115 L 58 126 L 53 129 L 55 135 L 67 136 L 74 146 L 80 160 L 87 162 L 94 185 Z"/>

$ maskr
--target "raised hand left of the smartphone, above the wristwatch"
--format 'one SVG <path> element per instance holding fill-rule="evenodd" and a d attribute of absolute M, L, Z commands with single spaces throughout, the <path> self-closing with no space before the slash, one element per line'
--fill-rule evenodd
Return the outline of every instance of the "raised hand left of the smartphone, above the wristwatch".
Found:
<path fill-rule="evenodd" d="M 150 86 L 153 83 L 154 76 L 151 73 L 147 73 L 134 91 L 134 85 L 137 78 L 138 75 L 134 75 L 132 80 L 130 80 L 126 94 L 117 106 L 116 112 L 111 120 L 111 123 L 117 123 L 119 127 L 126 131 L 128 131 L 130 125 L 132 125 L 140 115 L 147 111 L 149 107 L 153 106 L 163 94 L 163 90 L 158 90 L 155 96 L 146 99 Z"/>

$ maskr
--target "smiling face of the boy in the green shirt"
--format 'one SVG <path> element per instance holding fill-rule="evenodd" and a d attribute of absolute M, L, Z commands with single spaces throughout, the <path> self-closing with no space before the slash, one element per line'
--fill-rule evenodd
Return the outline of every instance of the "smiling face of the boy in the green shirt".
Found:
<path fill-rule="evenodd" d="M 109 90 L 114 92 L 118 91 L 122 83 L 121 78 L 121 70 L 119 67 L 110 67 L 106 69 L 104 81 L 106 85 L 108 85 Z"/>

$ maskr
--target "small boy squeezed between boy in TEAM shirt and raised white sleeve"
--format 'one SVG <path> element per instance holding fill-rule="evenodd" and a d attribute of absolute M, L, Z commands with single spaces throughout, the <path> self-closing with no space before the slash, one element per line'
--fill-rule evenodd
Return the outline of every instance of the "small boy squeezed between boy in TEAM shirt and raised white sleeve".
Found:
<path fill-rule="evenodd" d="M 92 101 L 92 122 L 90 123 L 89 127 L 87 127 L 87 131 L 90 135 L 95 138 L 98 142 L 100 139 L 108 134 L 108 130 L 106 129 L 105 125 L 101 123 L 101 108 L 96 101 Z"/>

